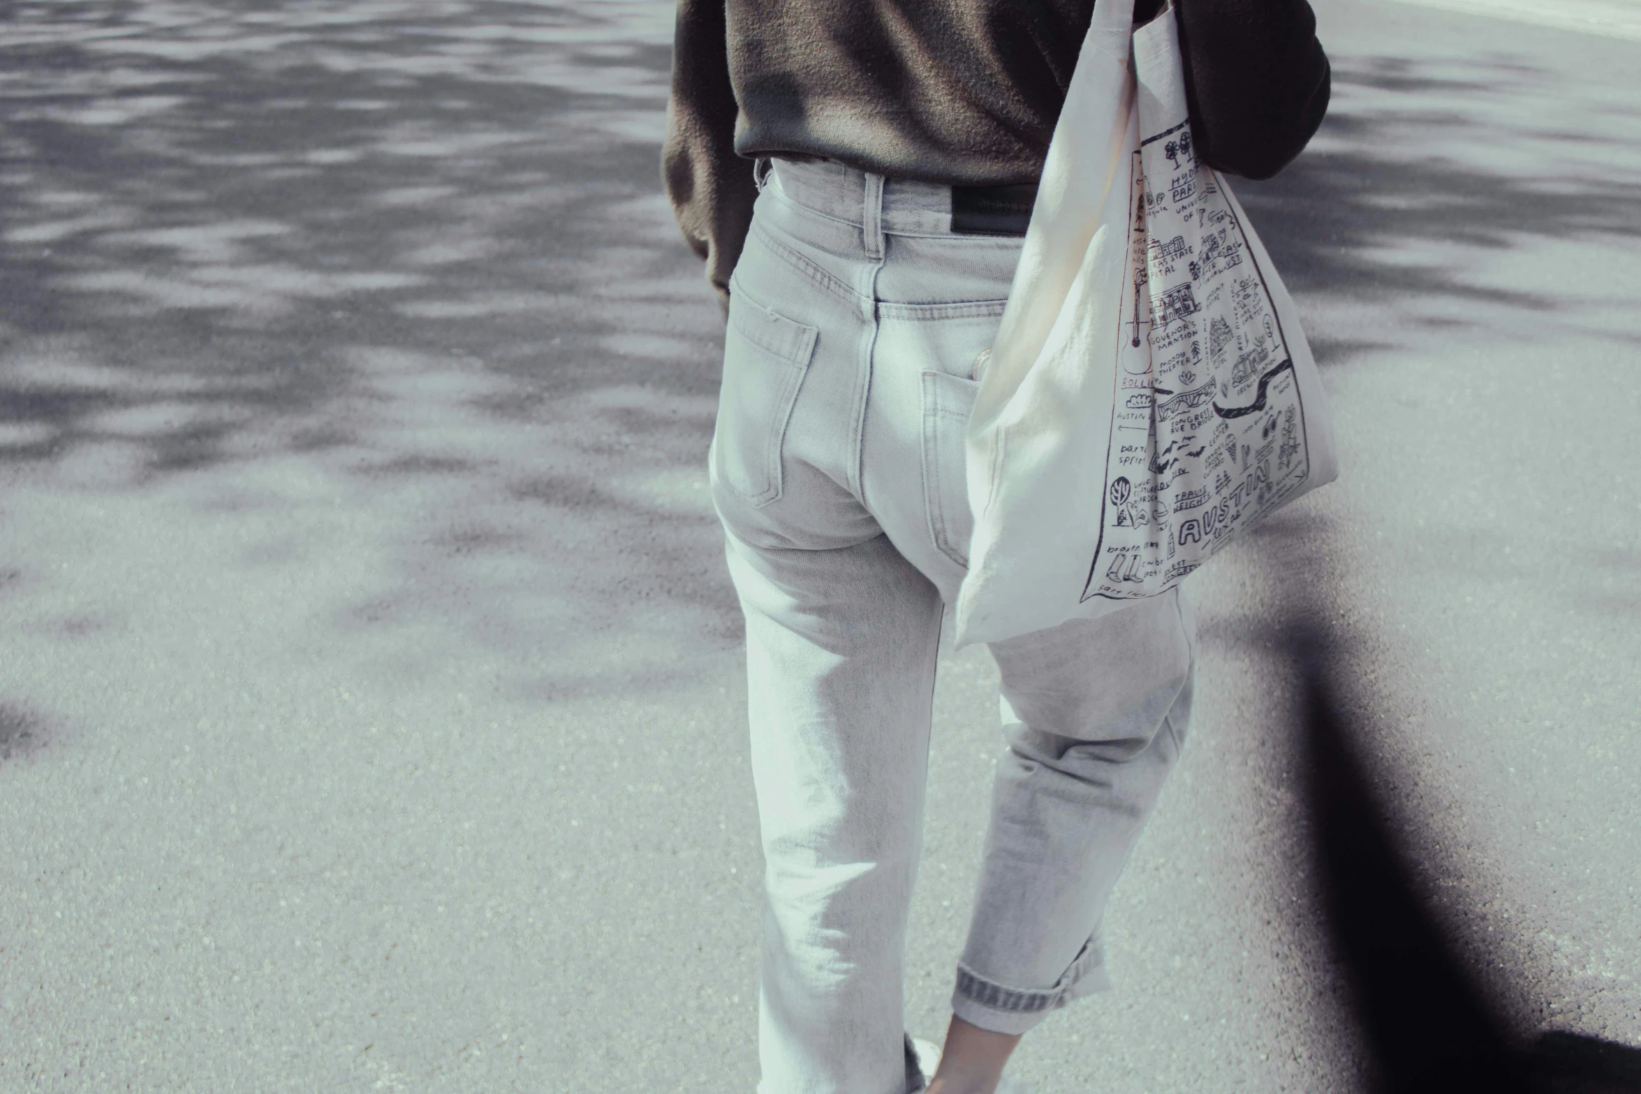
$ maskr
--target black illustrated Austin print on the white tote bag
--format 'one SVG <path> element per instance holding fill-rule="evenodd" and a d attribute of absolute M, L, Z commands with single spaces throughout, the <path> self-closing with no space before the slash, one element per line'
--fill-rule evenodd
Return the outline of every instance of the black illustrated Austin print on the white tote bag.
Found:
<path fill-rule="evenodd" d="M 1186 123 L 1134 153 L 1132 315 L 1083 599 L 1167 589 L 1311 477 L 1303 335 L 1283 330 L 1229 190 L 1193 167 Z"/>

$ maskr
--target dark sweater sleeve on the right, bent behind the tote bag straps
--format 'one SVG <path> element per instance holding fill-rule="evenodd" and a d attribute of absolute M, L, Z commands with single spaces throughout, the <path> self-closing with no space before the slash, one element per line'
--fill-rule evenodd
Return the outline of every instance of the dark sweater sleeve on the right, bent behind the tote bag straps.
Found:
<path fill-rule="evenodd" d="M 1328 112 L 1328 54 L 1306 0 L 1175 0 L 1191 136 L 1211 167 L 1268 179 Z"/>

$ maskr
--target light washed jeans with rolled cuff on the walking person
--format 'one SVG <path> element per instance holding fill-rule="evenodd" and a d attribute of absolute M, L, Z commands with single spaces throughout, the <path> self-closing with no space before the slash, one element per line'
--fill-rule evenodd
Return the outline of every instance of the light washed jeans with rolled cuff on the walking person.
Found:
<path fill-rule="evenodd" d="M 765 853 L 760 1094 L 903 1094 L 907 907 L 963 426 L 1019 239 L 944 187 L 778 162 L 735 269 L 712 500 L 747 615 Z M 1022 1033 L 1108 986 L 1099 922 L 1185 738 L 1185 600 L 994 643 L 1003 735 L 952 1007 Z M 976 802 L 978 809 L 978 802 Z"/>

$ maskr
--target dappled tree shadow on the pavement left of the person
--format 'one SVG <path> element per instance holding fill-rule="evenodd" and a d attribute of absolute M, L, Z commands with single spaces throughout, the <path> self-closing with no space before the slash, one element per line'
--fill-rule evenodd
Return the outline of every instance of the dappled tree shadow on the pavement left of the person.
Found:
<path fill-rule="evenodd" d="M 548 694 L 599 633 L 727 648 L 670 38 L 624 0 L 13 5 L 0 467 L 264 515 L 323 479 L 400 571 L 333 625 L 440 620 Z"/>

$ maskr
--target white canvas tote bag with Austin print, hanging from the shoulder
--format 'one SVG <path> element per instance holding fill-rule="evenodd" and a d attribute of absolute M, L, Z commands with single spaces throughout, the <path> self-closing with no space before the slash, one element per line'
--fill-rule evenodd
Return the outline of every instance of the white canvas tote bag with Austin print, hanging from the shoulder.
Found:
<path fill-rule="evenodd" d="M 1095 5 L 983 362 L 960 645 L 1165 592 L 1337 474 L 1293 300 L 1196 159 L 1173 10 L 1132 18 Z"/>

